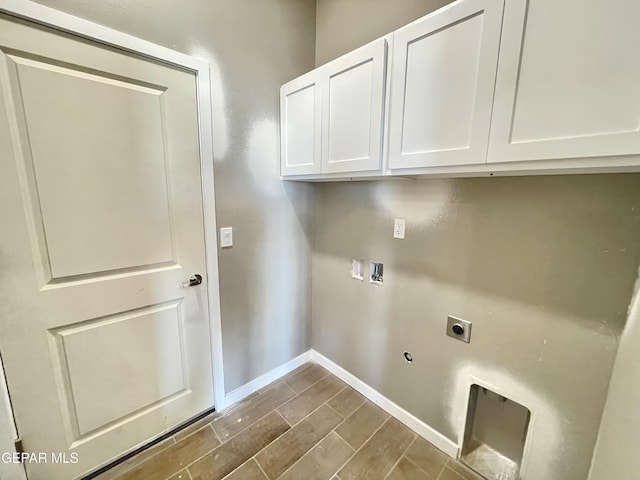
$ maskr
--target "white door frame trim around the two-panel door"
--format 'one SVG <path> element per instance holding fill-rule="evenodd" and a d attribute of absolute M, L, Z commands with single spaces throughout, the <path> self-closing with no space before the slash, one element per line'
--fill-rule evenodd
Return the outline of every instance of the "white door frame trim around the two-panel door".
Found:
<path fill-rule="evenodd" d="M 218 240 L 216 235 L 215 192 L 213 182 L 213 125 L 211 111 L 211 77 L 209 63 L 175 50 L 141 40 L 131 35 L 103 27 L 58 10 L 28 0 L 0 0 L 0 13 L 53 27 L 104 45 L 126 50 L 147 58 L 186 68 L 196 75 L 198 99 L 198 129 L 200 137 L 200 166 L 202 172 L 202 202 L 204 208 L 205 252 L 207 268 L 207 296 L 209 329 L 213 365 L 213 396 L 216 410 L 225 404 L 224 371 L 222 364 L 222 324 L 220 320 L 220 291 L 218 279 Z M 0 395 L 2 392 L 0 392 Z M 10 414 L 11 412 L 9 412 Z M 0 420 L 7 412 L 0 409 Z M 6 418 L 13 422 L 13 418 Z M 0 422 L 2 423 L 2 422 Z M 2 435 L 11 432 L 0 432 Z M 0 440 L 5 440 L 4 438 Z M 13 438 L 9 439 L 13 442 Z M 3 444 L 4 442 L 0 442 Z"/>

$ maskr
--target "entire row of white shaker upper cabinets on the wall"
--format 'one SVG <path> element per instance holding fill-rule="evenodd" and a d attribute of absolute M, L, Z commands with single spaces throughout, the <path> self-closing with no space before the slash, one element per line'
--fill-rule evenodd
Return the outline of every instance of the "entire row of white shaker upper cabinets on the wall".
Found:
<path fill-rule="evenodd" d="M 640 0 L 457 0 L 284 85 L 282 175 L 640 171 Z"/>

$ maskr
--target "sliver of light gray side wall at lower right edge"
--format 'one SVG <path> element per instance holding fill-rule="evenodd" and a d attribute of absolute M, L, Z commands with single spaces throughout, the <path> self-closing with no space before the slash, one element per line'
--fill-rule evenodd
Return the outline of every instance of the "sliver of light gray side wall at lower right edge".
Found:
<path fill-rule="evenodd" d="M 590 480 L 636 480 L 640 472 L 640 278 L 620 340 Z"/>

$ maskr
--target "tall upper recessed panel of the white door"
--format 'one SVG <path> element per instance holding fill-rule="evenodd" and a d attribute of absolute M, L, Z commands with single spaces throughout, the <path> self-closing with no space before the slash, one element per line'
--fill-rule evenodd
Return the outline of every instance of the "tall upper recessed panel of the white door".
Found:
<path fill-rule="evenodd" d="M 52 279 L 173 262 L 163 90 L 13 55 L 7 63 Z"/>

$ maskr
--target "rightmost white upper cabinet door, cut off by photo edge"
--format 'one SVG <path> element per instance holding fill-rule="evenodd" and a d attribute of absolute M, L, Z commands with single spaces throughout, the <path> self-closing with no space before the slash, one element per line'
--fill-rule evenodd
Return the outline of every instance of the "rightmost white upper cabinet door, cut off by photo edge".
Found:
<path fill-rule="evenodd" d="M 490 162 L 640 153 L 640 2 L 508 0 Z"/>

